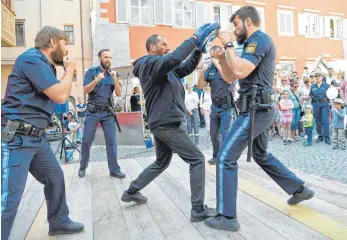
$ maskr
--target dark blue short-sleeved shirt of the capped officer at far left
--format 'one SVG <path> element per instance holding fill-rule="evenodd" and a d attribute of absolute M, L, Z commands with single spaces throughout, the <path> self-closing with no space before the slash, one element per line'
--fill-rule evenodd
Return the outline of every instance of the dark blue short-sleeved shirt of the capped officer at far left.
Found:
<path fill-rule="evenodd" d="M 42 91 L 57 83 L 54 65 L 39 49 L 28 49 L 17 58 L 8 77 L 1 115 L 46 128 L 55 103 Z"/>

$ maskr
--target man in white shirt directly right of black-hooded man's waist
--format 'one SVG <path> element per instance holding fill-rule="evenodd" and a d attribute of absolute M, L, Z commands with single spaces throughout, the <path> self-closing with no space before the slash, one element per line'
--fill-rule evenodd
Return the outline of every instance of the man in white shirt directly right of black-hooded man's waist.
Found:
<path fill-rule="evenodd" d="M 200 118 L 199 118 L 199 95 L 193 91 L 193 86 L 187 86 L 187 92 L 184 101 L 187 109 L 187 125 L 188 125 L 188 134 L 195 140 L 195 144 L 199 143 L 199 126 L 200 126 Z M 194 134 L 193 134 L 194 129 Z"/>

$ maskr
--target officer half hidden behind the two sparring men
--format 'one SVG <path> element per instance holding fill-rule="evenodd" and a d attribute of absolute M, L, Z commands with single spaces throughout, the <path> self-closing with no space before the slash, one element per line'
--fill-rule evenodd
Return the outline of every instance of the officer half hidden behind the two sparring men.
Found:
<path fill-rule="evenodd" d="M 211 51 L 215 51 L 220 46 L 213 46 Z M 233 96 L 232 84 L 225 81 L 222 69 L 217 59 L 212 58 L 212 63 L 206 69 L 206 65 L 199 68 L 200 75 L 198 87 L 204 88 L 207 83 L 211 86 L 211 114 L 210 114 L 210 134 L 213 147 L 212 159 L 208 163 L 215 164 L 217 153 L 222 142 L 226 138 L 233 121 Z"/>

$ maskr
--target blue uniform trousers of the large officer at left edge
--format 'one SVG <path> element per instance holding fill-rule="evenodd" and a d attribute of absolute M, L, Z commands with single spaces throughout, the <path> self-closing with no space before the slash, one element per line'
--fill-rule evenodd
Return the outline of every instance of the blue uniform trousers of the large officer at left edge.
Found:
<path fill-rule="evenodd" d="M 15 135 L 1 142 L 1 239 L 9 238 L 11 228 L 30 172 L 42 183 L 50 229 L 69 223 L 64 173 L 44 137 Z"/>

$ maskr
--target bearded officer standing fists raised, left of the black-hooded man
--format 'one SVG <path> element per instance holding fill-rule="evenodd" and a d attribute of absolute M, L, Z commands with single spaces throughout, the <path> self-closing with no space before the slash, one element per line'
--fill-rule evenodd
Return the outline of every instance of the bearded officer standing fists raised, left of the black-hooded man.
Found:
<path fill-rule="evenodd" d="M 109 49 L 98 53 L 100 66 L 88 69 L 84 77 L 84 92 L 89 94 L 87 115 L 84 122 L 82 139 L 82 159 L 78 175 L 84 177 L 88 167 L 90 147 L 95 138 L 95 131 L 101 123 L 105 135 L 108 168 L 110 175 L 125 178 L 117 163 L 117 142 L 115 117 L 110 112 L 113 108 L 113 91 L 121 95 L 119 75 L 111 70 L 112 55 Z"/>

